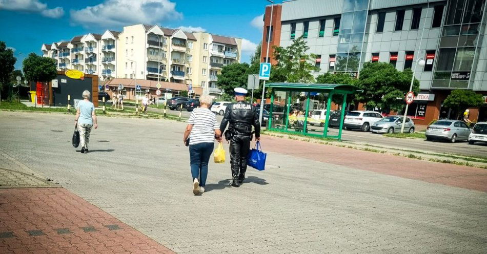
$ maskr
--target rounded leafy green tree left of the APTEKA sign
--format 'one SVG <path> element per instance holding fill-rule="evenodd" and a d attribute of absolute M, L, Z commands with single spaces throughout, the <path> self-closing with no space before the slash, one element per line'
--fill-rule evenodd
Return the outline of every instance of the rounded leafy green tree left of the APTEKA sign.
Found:
<path fill-rule="evenodd" d="M 356 94 L 356 98 L 368 109 L 377 107 L 400 112 L 405 105 L 402 98 L 409 91 L 412 77 L 410 69 L 401 72 L 388 62 L 366 62 L 355 83 L 363 93 Z M 415 94 L 419 92 L 417 79 L 413 82 L 413 91 Z"/>

